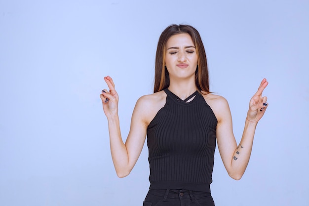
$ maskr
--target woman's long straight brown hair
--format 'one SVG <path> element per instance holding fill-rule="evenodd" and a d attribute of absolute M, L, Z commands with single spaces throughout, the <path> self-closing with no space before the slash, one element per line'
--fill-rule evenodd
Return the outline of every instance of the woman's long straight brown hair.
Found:
<path fill-rule="evenodd" d="M 166 42 L 171 36 L 183 33 L 191 36 L 197 54 L 195 85 L 200 92 L 209 93 L 207 58 L 203 42 L 195 28 L 184 24 L 168 26 L 159 38 L 155 54 L 154 92 L 161 91 L 169 86 L 169 75 L 165 67 Z"/>

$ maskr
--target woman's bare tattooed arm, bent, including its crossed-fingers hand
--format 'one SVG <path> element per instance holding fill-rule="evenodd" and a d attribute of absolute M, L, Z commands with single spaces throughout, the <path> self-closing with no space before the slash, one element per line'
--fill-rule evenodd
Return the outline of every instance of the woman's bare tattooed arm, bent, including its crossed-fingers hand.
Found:
<path fill-rule="evenodd" d="M 240 179 L 248 165 L 257 123 L 263 117 L 268 106 L 268 103 L 266 103 L 267 97 L 262 97 L 263 90 L 267 85 L 267 80 L 263 79 L 258 91 L 250 100 L 245 127 L 239 145 L 236 144 L 232 132 L 232 117 L 229 104 L 225 99 L 220 101 L 217 142 L 223 164 L 233 179 Z"/>

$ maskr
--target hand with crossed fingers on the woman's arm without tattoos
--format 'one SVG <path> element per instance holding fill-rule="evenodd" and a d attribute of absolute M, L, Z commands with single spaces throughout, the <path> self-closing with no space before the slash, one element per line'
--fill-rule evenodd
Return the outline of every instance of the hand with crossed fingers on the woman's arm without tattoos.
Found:
<path fill-rule="evenodd" d="M 103 110 L 107 118 L 116 115 L 118 113 L 118 94 L 115 90 L 115 83 L 110 76 L 104 77 L 110 91 L 107 89 L 102 90 L 100 97 L 102 99 Z"/>

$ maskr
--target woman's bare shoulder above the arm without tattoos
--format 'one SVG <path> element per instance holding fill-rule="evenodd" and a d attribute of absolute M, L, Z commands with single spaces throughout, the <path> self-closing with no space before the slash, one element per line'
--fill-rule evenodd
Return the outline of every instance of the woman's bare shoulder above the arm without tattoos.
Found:
<path fill-rule="evenodd" d="M 166 93 L 164 91 L 158 91 L 153 94 L 141 96 L 137 100 L 134 110 L 138 110 L 143 116 L 145 124 L 149 125 L 156 113 L 164 107 L 165 103 Z"/>

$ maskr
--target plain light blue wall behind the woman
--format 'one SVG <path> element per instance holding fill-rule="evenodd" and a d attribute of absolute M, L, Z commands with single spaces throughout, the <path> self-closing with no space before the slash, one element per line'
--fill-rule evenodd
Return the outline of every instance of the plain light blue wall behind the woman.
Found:
<path fill-rule="evenodd" d="M 270 82 L 240 181 L 216 153 L 216 205 L 309 205 L 308 0 L 0 0 L 1 206 L 142 205 L 147 148 L 116 177 L 99 94 L 113 77 L 125 139 L 172 23 L 200 32 L 211 91 L 229 101 L 237 142 L 249 99 Z"/>

